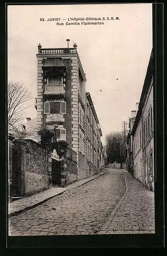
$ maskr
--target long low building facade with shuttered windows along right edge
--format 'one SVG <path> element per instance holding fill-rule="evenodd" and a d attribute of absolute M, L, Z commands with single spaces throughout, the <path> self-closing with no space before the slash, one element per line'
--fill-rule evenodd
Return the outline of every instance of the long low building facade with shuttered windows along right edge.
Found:
<path fill-rule="evenodd" d="M 153 53 L 132 127 L 134 177 L 154 191 Z"/>

